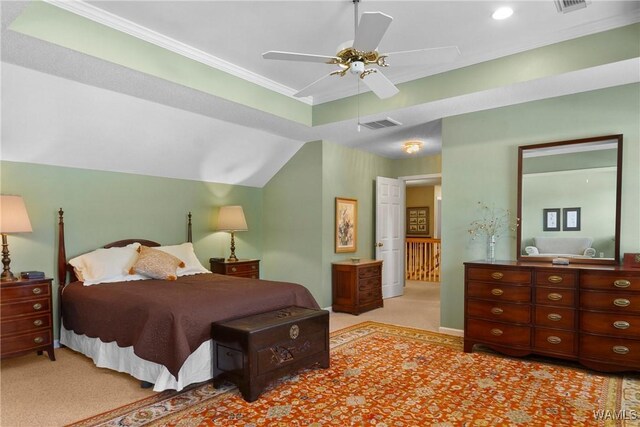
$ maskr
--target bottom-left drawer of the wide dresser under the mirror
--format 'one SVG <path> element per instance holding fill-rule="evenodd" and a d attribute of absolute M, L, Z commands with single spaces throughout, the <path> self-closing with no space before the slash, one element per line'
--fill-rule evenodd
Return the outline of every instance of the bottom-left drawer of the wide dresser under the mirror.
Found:
<path fill-rule="evenodd" d="M 515 347 L 529 347 L 531 345 L 531 328 L 528 326 L 469 319 L 464 333 L 465 340 L 472 339 Z"/>

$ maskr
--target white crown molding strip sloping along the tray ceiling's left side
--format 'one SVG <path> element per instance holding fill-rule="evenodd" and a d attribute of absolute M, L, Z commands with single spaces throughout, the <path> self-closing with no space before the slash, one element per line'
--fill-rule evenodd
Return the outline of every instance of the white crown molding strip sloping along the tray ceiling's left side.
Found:
<path fill-rule="evenodd" d="M 118 15 L 107 12 L 82 0 L 43 0 L 44 2 L 64 9 L 67 12 L 74 13 L 83 18 L 89 19 L 98 24 L 105 25 L 114 30 L 123 32 L 132 37 L 136 37 L 140 40 L 144 40 L 148 43 L 154 44 L 163 49 L 169 50 L 178 55 L 200 62 L 208 67 L 215 68 L 225 73 L 231 74 L 235 77 L 246 80 L 250 83 L 257 84 L 266 89 L 272 90 L 279 94 L 285 95 L 289 98 L 296 99 L 305 104 L 312 105 L 313 98 L 296 98 L 294 93 L 297 90 L 288 86 L 280 84 L 276 81 L 263 77 L 257 73 L 247 70 L 246 68 L 239 67 L 224 59 L 213 56 L 202 50 L 196 49 L 178 40 L 167 37 L 149 28 L 136 24 L 135 22 L 124 19 Z"/>

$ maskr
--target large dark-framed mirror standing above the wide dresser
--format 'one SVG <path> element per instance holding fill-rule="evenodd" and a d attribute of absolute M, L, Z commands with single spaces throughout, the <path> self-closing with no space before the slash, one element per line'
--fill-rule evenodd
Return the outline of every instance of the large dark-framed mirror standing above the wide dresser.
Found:
<path fill-rule="evenodd" d="M 618 264 L 622 135 L 518 147 L 518 260 Z"/>

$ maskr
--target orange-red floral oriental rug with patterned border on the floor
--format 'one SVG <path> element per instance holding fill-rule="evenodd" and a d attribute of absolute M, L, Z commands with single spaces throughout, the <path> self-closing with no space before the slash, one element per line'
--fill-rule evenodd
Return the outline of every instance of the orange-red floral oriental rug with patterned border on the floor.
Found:
<path fill-rule="evenodd" d="M 464 353 L 462 339 L 365 322 L 331 335 L 331 367 L 245 402 L 211 383 L 80 421 L 85 426 L 638 426 L 640 378 Z"/>

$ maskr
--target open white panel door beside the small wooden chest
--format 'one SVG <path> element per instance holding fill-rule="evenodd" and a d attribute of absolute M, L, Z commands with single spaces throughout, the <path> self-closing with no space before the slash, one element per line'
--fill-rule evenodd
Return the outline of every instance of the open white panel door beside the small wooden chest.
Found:
<path fill-rule="evenodd" d="M 404 293 L 404 181 L 376 178 L 376 259 L 382 260 L 382 298 Z"/>

